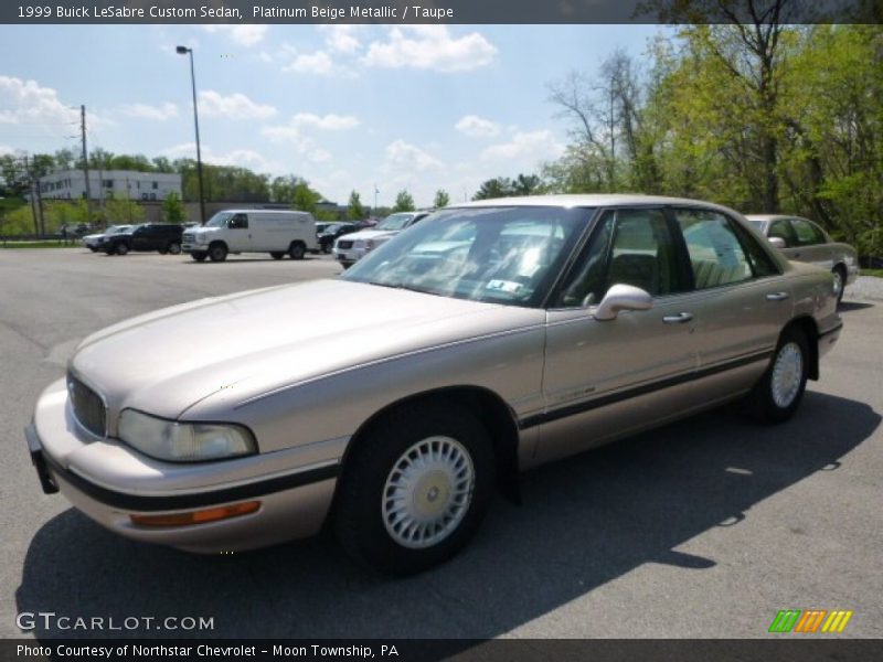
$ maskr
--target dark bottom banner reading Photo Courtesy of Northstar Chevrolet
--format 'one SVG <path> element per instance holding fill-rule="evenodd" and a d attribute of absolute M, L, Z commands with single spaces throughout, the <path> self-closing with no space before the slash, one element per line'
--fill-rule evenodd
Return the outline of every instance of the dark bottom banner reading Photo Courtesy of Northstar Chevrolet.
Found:
<path fill-rule="evenodd" d="M 772 636 L 775 637 L 775 636 Z M 883 640 L 830 639 L 10 639 L 0 641 L 0 662 L 264 662 L 390 660 L 592 662 L 865 662 L 883 659 Z"/>

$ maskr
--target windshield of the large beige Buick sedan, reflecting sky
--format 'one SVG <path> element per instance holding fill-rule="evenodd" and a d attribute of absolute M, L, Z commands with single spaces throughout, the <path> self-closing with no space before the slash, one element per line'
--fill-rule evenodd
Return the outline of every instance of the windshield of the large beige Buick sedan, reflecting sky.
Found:
<path fill-rule="evenodd" d="M 437 212 L 370 253 L 342 278 L 536 307 L 591 214 L 540 206 Z"/>

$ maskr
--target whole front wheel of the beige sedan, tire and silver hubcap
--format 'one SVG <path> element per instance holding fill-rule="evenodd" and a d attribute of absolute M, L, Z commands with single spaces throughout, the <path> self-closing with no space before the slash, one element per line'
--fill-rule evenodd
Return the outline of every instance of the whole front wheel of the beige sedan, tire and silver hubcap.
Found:
<path fill-rule="evenodd" d="M 454 556 L 475 534 L 493 491 L 487 430 L 454 403 L 387 415 L 357 441 L 334 525 L 358 560 L 412 575 Z"/>

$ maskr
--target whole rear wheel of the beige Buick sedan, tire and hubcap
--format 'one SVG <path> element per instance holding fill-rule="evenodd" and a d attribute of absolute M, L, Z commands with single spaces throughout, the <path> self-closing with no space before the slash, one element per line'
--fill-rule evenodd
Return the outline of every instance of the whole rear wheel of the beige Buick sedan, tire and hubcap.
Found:
<path fill-rule="evenodd" d="M 809 341 L 800 329 L 786 330 L 764 376 L 748 395 L 756 418 L 769 423 L 788 420 L 804 397 L 809 375 Z"/>

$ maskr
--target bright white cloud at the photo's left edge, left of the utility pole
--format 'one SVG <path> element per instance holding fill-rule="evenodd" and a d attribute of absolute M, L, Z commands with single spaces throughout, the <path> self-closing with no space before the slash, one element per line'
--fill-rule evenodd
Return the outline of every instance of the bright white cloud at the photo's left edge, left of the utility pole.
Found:
<path fill-rule="evenodd" d="M 89 115 L 88 119 L 92 125 L 96 118 Z M 79 108 L 63 104 L 56 90 L 36 81 L 0 76 L 0 124 L 22 122 L 61 138 L 79 125 Z"/>

